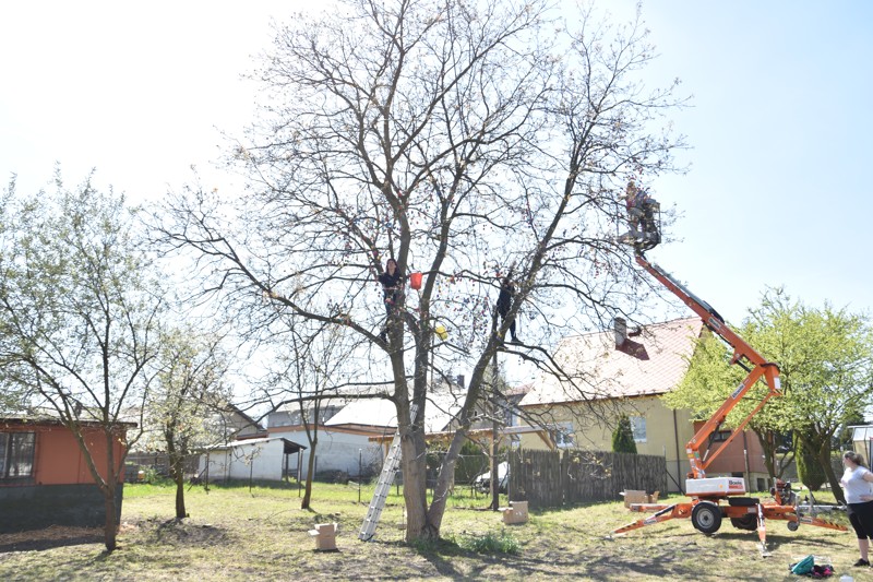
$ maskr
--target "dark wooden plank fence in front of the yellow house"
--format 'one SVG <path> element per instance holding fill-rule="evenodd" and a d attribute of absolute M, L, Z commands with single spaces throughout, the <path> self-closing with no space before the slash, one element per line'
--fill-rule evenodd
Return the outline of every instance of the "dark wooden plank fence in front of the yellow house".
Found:
<path fill-rule="evenodd" d="M 605 451 L 510 453 L 510 499 L 533 508 L 615 501 L 625 489 L 667 490 L 663 456 Z"/>

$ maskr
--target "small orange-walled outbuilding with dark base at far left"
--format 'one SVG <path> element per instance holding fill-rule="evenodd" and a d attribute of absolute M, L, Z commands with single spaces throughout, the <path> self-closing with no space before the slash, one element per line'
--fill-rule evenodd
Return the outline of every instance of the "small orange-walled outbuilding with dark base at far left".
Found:
<path fill-rule="evenodd" d="M 103 426 L 87 421 L 81 426 L 97 471 L 107 475 Z M 118 438 L 112 439 L 116 462 L 122 462 L 127 430 L 135 426 L 118 425 Z M 116 507 L 120 519 L 123 471 L 119 475 Z M 0 533 L 105 523 L 103 494 L 73 432 L 57 419 L 0 417 Z"/>

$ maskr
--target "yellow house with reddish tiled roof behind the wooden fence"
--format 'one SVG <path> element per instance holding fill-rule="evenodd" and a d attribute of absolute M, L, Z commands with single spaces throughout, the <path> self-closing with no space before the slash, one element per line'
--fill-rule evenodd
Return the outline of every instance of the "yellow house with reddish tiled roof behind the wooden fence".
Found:
<path fill-rule="evenodd" d="M 684 490 L 685 444 L 697 425 L 689 411 L 668 408 L 660 396 L 681 382 L 702 333 L 702 321 L 686 318 L 565 337 L 554 356 L 561 377 L 535 382 L 519 403 L 523 415 L 551 427 L 559 447 L 602 451 L 611 450 L 618 418 L 626 415 L 637 452 L 663 455 L 669 489 Z M 522 447 L 543 448 L 530 436 Z M 710 473 L 745 476 L 751 490 L 761 490 L 767 486 L 762 454 L 757 437 L 748 432 L 720 453 Z"/>

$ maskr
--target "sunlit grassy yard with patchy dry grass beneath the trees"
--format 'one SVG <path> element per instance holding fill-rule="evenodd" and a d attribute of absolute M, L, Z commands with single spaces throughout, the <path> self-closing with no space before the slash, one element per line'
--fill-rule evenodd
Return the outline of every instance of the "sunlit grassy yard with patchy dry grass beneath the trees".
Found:
<path fill-rule="evenodd" d="M 873 580 L 873 570 L 850 567 L 853 534 L 812 526 L 789 532 L 774 520 L 768 558 L 758 554 L 754 532 L 727 520 L 711 536 L 673 520 L 611 539 L 610 531 L 642 515 L 618 501 L 534 511 L 528 523 L 504 526 L 499 513 L 483 509 L 487 499 L 458 495 L 443 520 L 444 539 L 409 546 L 402 498 L 393 495 L 376 538 L 362 543 L 357 534 L 372 490 L 364 487 L 359 503 L 355 486 L 315 484 L 314 511 L 302 511 L 296 488 L 194 487 L 187 492 L 191 518 L 176 522 L 171 487 L 128 485 L 120 549 L 106 554 L 95 531 L 0 535 L 0 580 L 772 581 L 798 580 L 788 565 L 808 554 L 834 565 L 832 580 L 844 573 Z M 842 514 L 834 519 L 846 522 Z M 338 551 L 314 551 L 308 531 L 334 521 Z"/>

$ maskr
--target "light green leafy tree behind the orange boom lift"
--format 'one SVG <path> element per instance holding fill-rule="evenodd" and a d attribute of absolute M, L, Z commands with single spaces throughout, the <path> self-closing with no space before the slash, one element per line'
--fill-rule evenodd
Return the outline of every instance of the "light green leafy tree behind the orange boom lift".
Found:
<path fill-rule="evenodd" d="M 739 332 L 763 357 L 779 365 L 782 396 L 769 401 L 749 424 L 770 455 L 768 467 L 775 466 L 778 435 L 793 432 L 796 442 L 802 441 L 803 450 L 815 456 L 841 502 L 842 488 L 830 465 L 832 443 L 847 420 L 873 399 L 873 332 L 866 316 L 827 304 L 809 308 L 782 289 L 768 289 Z M 696 418 L 707 418 L 742 377 L 742 370 L 726 364 L 723 346 L 705 334 L 687 375 L 665 400 L 672 407 L 693 411 Z M 763 382 L 753 387 L 727 425 L 744 418 L 764 391 Z"/>

